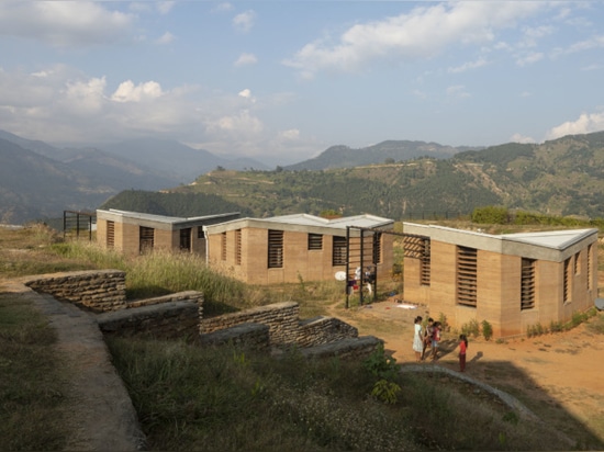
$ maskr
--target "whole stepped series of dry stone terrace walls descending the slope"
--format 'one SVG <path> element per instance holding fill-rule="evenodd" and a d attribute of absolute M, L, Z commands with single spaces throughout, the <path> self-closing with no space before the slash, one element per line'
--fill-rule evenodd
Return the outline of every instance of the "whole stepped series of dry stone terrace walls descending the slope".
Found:
<path fill-rule="evenodd" d="M 23 283 L 96 313 L 105 335 L 195 337 L 204 347 L 232 343 L 257 350 L 295 346 L 309 355 L 357 358 L 370 354 L 379 344 L 379 340 L 358 338 L 355 327 L 337 318 L 300 321 L 300 307 L 293 302 L 211 318 L 203 318 L 203 295 L 195 291 L 128 302 L 121 270 L 48 274 Z"/>

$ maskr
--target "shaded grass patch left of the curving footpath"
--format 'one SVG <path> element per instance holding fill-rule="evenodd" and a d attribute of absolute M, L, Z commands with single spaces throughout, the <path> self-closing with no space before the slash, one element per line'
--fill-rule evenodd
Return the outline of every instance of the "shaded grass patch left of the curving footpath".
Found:
<path fill-rule="evenodd" d="M 55 342 L 42 314 L 0 294 L 0 450 L 64 450 L 65 378 Z"/>

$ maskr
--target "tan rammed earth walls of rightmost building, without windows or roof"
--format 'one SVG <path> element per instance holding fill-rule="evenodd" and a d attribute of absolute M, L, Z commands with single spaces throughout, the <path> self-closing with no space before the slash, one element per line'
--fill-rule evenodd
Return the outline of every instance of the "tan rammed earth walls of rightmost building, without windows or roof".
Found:
<path fill-rule="evenodd" d="M 477 306 L 471 307 L 457 303 L 457 245 L 430 240 L 430 284 L 421 285 L 420 260 L 405 258 L 404 298 L 426 304 L 433 318 L 444 315 L 454 328 L 460 329 L 471 320 L 479 324 L 488 320 L 494 337 L 523 335 L 537 324 L 550 327 L 552 323 L 569 321 L 574 312 L 593 305 L 597 296 L 597 256 L 593 245 L 588 259 L 589 248 L 589 244 L 584 244 L 570 257 L 571 296 L 567 303 L 563 300 L 564 262 L 535 261 L 535 306 L 528 309 L 521 309 L 522 257 L 478 250 Z"/>

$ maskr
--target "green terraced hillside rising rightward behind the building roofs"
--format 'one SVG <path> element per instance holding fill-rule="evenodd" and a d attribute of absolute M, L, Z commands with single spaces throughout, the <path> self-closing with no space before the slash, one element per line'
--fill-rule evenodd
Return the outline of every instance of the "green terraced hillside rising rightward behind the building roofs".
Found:
<path fill-rule="evenodd" d="M 500 205 L 548 215 L 600 218 L 604 217 L 603 176 L 601 132 L 543 145 L 493 146 L 459 152 L 449 159 L 420 158 L 314 171 L 214 170 L 200 176 L 193 184 L 163 193 L 163 205 L 157 204 L 156 194 L 136 195 L 156 200 L 156 206 L 150 201 L 143 203 L 145 212 L 170 215 L 199 215 L 211 200 L 221 212 L 239 211 L 257 217 L 336 211 L 343 215 L 370 213 L 404 219 L 424 214 L 470 214 L 476 207 Z M 131 193 L 120 194 L 111 206 L 139 210 L 120 204 Z M 178 197 L 182 195 L 190 196 L 186 203 Z M 192 202 L 197 195 L 213 197 Z M 176 205 L 181 210 L 175 212 Z"/>

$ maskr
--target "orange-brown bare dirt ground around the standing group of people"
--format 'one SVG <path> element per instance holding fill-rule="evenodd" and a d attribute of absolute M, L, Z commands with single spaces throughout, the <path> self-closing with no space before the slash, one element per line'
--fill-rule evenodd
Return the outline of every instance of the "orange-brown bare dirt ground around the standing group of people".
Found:
<path fill-rule="evenodd" d="M 405 309 L 395 301 L 332 314 L 384 340 L 400 364 L 415 364 L 413 319 L 425 306 Z M 601 316 L 604 314 L 600 314 Z M 459 370 L 457 337 L 444 335 L 438 365 Z M 470 338 L 466 374 L 504 391 L 579 442 L 604 444 L 604 335 L 580 325 L 571 331 L 505 342 Z M 583 431 L 579 431 L 579 430 Z"/>

